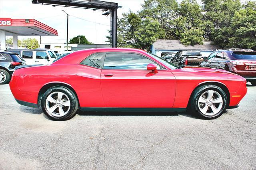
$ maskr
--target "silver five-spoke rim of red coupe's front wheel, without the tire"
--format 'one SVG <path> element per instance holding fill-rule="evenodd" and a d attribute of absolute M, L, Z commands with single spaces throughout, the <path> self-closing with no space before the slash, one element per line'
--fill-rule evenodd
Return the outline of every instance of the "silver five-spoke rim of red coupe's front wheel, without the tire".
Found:
<path fill-rule="evenodd" d="M 205 91 L 198 100 L 199 110 L 207 116 L 212 116 L 220 112 L 223 105 L 223 99 L 217 91 Z"/>

